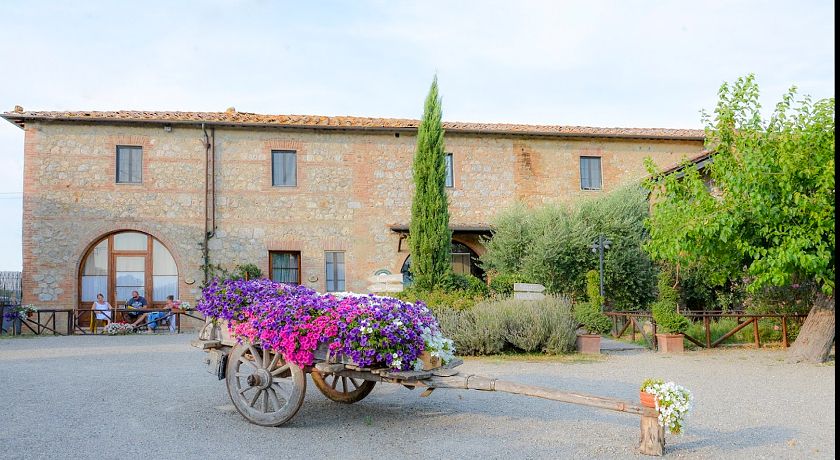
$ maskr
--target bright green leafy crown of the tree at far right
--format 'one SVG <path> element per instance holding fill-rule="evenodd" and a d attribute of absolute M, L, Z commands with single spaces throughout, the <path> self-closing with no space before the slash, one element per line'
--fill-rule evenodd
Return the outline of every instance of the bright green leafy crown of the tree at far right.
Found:
<path fill-rule="evenodd" d="M 834 99 L 812 103 L 792 88 L 769 120 L 752 75 L 721 86 L 705 115 L 706 178 L 686 163 L 682 177 L 647 182 L 653 210 L 646 248 L 681 267 L 712 267 L 711 281 L 748 289 L 812 280 L 834 291 Z"/>

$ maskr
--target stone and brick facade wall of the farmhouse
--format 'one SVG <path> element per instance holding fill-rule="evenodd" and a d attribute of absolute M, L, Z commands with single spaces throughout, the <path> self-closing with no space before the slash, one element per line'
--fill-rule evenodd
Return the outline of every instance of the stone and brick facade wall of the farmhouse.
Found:
<path fill-rule="evenodd" d="M 347 290 L 380 269 L 399 273 L 411 213 L 415 137 L 394 132 L 216 128 L 216 233 L 210 261 L 269 269 L 269 251 L 300 251 L 302 280 L 324 290 L 324 251 L 345 251 Z M 453 225 L 487 225 L 515 201 L 570 203 L 702 150 L 699 141 L 550 139 L 449 134 Z M 143 147 L 142 185 L 115 184 L 117 145 Z M 272 187 L 271 150 L 297 151 L 297 186 Z M 580 190 L 579 157 L 602 158 L 603 191 Z M 23 282 L 28 303 L 72 307 L 90 245 L 133 229 L 172 252 L 184 300 L 203 279 L 205 151 L 195 127 L 28 123 Z M 476 238 L 463 242 L 481 253 Z M 186 281 L 196 280 L 187 284 Z"/>

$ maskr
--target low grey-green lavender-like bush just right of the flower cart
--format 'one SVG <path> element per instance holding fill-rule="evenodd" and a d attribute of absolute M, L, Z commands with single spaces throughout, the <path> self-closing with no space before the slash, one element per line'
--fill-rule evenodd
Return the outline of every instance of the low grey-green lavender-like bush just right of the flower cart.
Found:
<path fill-rule="evenodd" d="M 472 309 L 447 309 L 437 316 L 444 335 L 455 341 L 461 355 L 568 353 L 574 349 L 577 323 L 571 303 L 563 297 L 484 301 Z"/>

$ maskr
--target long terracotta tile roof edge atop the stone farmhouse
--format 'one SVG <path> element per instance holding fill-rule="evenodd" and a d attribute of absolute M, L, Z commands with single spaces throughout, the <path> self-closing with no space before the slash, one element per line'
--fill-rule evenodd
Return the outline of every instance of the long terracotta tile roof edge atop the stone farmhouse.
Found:
<path fill-rule="evenodd" d="M 171 122 L 211 123 L 234 126 L 318 127 L 342 129 L 417 129 L 419 120 L 405 118 L 367 118 L 320 115 L 262 115 L 237 112 L 154 112 L 119 110 L 101 111 L 14 111 L 2 114 L 6 120 L 23 126 L 27 120 L 64 120 L 90 122 Z M 523 125 L 504 123 L 444 122 L 444 129 L 453 132 L 500 133 L 569 137 L 631 137 L 702 140 L 703 130 L 669 128 L 595 128 L 589 126 Z"/>

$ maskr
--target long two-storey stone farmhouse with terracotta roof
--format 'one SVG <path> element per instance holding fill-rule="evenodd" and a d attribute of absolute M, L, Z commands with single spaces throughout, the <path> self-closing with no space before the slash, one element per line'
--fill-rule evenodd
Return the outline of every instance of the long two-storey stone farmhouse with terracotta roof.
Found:
<path fill-rule="evenodd" d="M 23 302 L 194 302 L 206 264 L 365 292 L 405 270 L 418 120 L 225 112 L 40 112 L 25 132 Z M 573 202 L 703 151 L 703 131 L 444 124 L 453 268 L 480 275 L 501 209 Z"/>

